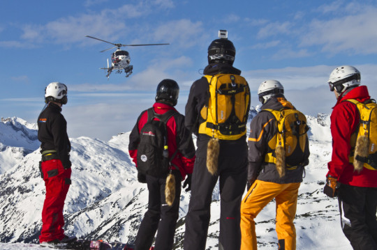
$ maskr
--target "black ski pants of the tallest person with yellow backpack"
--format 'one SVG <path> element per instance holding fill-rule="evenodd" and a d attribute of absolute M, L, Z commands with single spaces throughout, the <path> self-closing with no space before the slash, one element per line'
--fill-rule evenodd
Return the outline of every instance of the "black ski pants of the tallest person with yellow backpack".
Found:
<path fill-rule="evenodd" d="M 247 178 L 246 140 L 221 141 L 216 175 L 207 171 L 207 141 L 198 141 L 186 215 L 184 250 L 204 250 L 207 242 L 212 192 L 219 180 L 221 211 L 219 249 L 241 247 L 240 207 Z"/>

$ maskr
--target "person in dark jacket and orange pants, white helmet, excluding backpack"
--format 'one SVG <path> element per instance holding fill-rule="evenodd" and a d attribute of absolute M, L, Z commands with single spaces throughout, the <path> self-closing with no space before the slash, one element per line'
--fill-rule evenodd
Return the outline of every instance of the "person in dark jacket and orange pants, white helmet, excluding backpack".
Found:
<path fill-rule="evenodd" d="M 304 166 L 309 163 L 309 143 L 306 140 L 302 159 L 297 166 L 284 169 L 281 176 L 273 162 L 267 162 L 266 155 L 275 155 L 269 146 L 276 133 L 276 118 L 269 110 L 295 109 L 283 95 L 279 81 L 263 81 L 258 88 L 259 100 L 263 106 L 259 114 L 251 120 L 249 134 L 248 192 L 241 203 L 242 250 L 257 249 L 256 226 L 254 219 L 263 208 L 275 198 L 276 233 L 279 249 L 296 248 L 295 219 L 297 196 Z M 306 136 L 306 134 L 305 134 Z M 277 153 L 277 152 L 276 152 Z M 277 158 L 277 157 L 276 157 Z M 276 159 L 279 161 L 279 159 Z"/>

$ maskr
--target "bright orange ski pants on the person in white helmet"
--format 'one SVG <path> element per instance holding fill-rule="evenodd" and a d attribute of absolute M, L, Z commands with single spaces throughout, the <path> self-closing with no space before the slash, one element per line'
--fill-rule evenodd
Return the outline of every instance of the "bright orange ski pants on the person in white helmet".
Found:
<path fill-rule="evenodd" d="M 257 249 L 254 219 L 275 198 L 276 233 L 279 250 L 296 249 L 296 230 L 293 224 L 297 208 L 299 183 L 279 184 L 256 180 L 241 204 L 241 250 Z"/>

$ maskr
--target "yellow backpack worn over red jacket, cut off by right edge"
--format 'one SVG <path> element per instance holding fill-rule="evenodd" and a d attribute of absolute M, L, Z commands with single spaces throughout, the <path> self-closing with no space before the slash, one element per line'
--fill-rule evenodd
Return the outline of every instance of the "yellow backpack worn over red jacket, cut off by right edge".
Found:
<path fill-rule="evenodd" d="M 348 99 L 356 105 L 360 114 L 358 130 L 351 135 L 350 163 L 353 163 L 356 171 L 363 167 L 370 170 L 377 170 L 377 104 L 375 100 L 368 100 L 365 103 L 355 99 Z"/>

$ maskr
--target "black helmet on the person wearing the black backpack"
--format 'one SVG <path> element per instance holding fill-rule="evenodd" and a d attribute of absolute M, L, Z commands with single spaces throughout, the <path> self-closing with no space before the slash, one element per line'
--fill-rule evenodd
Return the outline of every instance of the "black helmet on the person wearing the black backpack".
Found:
<path fill-rule="evenodd" d="M 177 105 L 179 86 L 177 81 L 163 79 L 157 86 L 156 101 L 168 102 L 172 106 Z"/>

